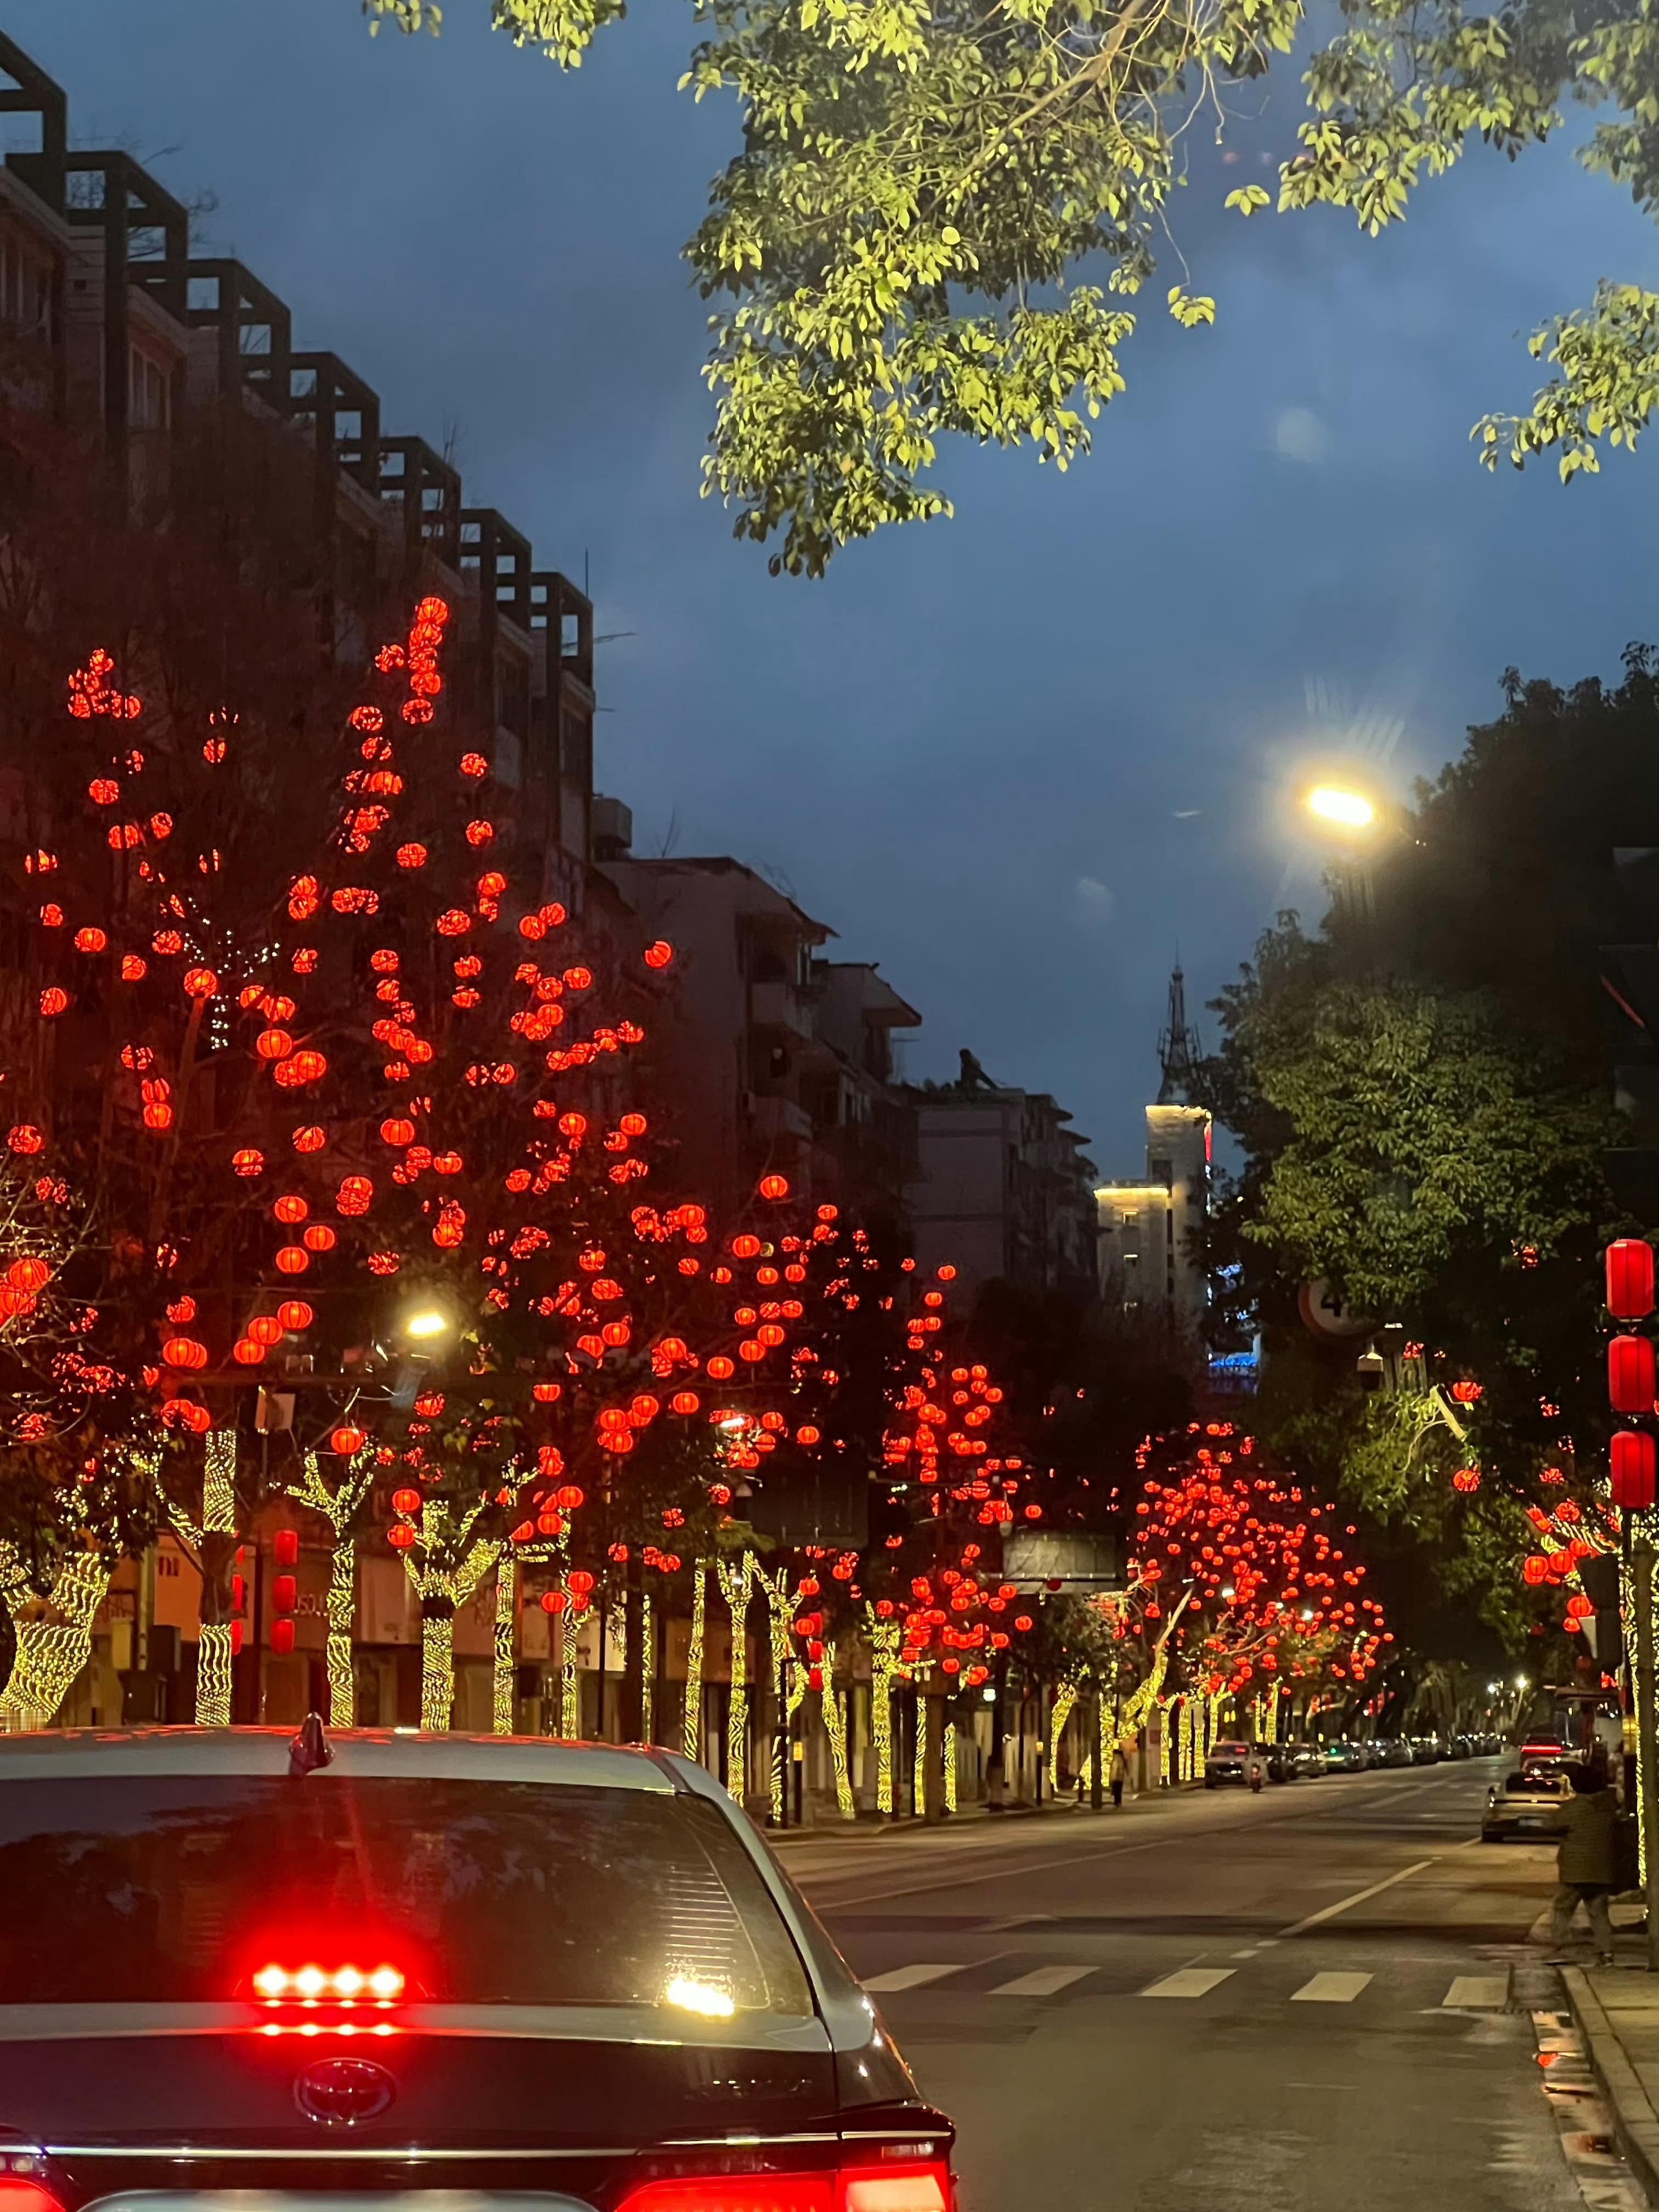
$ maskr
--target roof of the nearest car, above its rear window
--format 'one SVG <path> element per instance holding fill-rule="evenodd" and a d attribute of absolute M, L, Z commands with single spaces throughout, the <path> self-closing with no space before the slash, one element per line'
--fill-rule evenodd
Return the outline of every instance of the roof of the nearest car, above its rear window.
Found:
<path fill-rule="evenodd" d="M 681 1761 L 619 1743 L 422 1734 L 414 1728 L 332 1728 L 325 1739 L 334 1754 L 325 1774 L 513 1781 L 664 1796 L 695 1787 L 681 1778 Z M 53 1728 L 0 1734 L 0 1783 L 71 1774 L 285 1774 L 292 1743 L 292 1728 Z"/>

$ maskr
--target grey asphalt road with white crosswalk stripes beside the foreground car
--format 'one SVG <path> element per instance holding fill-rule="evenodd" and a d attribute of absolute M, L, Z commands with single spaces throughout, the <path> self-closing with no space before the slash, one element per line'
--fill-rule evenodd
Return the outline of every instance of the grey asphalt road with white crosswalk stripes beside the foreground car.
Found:
<path fill-rule="evenodd" d="M 1584 2212 L 1535 2064 L 1553 1851 L 1495 1761 L 801 1840 L 960 2126 L 962 2212 Z"/>

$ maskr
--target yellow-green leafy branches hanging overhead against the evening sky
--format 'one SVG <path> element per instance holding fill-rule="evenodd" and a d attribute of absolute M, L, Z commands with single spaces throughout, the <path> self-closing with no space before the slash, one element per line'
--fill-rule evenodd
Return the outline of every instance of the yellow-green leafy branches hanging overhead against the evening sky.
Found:
<path fill-rule="evenodd" d="M 363 0 L 436 31 L 431 0 Z M 491 0 L 520 46 L 575 69 L 624 0 Z M 1471 139 L 1511 161 L 1604 106 L 1579 148 L 1659 210 L 1655 0 L 1343 0 L 1307 55 L 1307 115 L 1276 206 L 1347 208 L 1376 234 Z M 703 0 L 681 80 L 734 93 L 743 146 L 686 254 L 710 319 L 706 493 L 774 573 L 818 575 L 880 529 L 951 513 L 947 431 L 1066 469 L 1126 378 L 1126 305 L 1172 237 L 1183 133 L 1225 128 L 1237 86 L 1290 55 L 1298 0 Z M 1279 64 L 1285 66 L 1283 62 Z M 1265 186 L 1225 195 L 1250 217 Z M 1099 274 L 1097 274 L 1099 272 Z M 1217 303 L 1168 285 L 1183 325 Z M 1659 400 L 1659 294 L 1613 279 L 1531 338 L 1555 374 L 1475 425 L 1480 458 L 1553 451 L 1571 480 L 1635 445 Z"/>

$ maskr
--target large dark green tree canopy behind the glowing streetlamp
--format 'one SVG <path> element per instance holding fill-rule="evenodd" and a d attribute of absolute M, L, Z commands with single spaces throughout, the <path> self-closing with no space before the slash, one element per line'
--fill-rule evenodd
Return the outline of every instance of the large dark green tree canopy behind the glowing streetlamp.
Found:
<path fill-rule="evenodd" d="M 1263 1332 L 1263 1438 L 1515 1635 L 1535 1515 L 1593 1511 L 1608 1427 L 1597 1250 L 1632 1223 L 1606 1175 L 1630 1133 L 1599 947 L 1630 936 L 1613 847 L 1659 812 L 1659 688 L 1632 648 L 1617 688 L 1504 690 L 1418 787 L 1371 898 L 1261 938 L 1208 1079 L 1243 1152 L 1214 1256 Z M 1363 1338 L 1305 1332 L 1318 1276 L 1398 1327 L 1396 1389 L 1360 1389 Z"/>

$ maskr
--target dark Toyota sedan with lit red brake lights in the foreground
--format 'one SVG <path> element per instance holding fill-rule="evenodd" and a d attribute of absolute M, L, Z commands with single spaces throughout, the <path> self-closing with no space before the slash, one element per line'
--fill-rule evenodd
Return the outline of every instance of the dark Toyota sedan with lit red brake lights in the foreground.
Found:
<path fill-rule="evenodd" d="M 953 2201 L 874 2002 L 670 1752 L 0 1736 L 0 1958 L 27 2212 Z"/>

